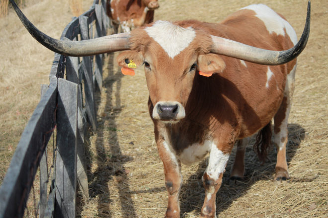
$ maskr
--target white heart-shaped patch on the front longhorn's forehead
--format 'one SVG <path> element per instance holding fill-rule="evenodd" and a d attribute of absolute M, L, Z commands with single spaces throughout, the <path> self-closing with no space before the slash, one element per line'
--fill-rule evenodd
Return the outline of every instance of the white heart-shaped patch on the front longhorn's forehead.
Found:
<path fill-rule="evenodd" d="M 196 36 L 191 27 L 183 28 L 162 20 L 156 21 L 145 30 L 171 58 L 187 48 Z"/>

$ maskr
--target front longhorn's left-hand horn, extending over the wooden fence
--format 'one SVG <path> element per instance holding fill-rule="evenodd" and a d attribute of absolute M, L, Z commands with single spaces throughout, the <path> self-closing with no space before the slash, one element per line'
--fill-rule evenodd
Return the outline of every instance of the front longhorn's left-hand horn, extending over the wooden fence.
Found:
<path fill-rule="evenodd" d="M 129 49 L 129 33 L 120 33 L 82 41 L 63 41 L 47 36 L 39 31 L 18 8 L 14 0 L 10 0 L 19 19 L 28 32 L 43 46 L 55 53 L 68 56 L 89 56 L 108 52 L 123 51 Z"/>

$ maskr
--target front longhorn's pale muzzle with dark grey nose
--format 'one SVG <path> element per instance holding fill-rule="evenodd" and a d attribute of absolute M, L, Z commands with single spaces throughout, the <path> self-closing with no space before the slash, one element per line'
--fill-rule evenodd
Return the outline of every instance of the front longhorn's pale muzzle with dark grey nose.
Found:
<path fill-rule="evenodd" d="M 153 109 L 153 118 L 166 122 L 178 122 L 184 116 L 184 108 L 178 102 L 158 102 Z"/>

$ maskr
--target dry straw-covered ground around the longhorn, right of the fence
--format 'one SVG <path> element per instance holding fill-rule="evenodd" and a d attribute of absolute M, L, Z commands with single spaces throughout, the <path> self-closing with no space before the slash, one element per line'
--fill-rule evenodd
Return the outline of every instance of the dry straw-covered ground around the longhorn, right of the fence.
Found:
<path fill-rule="evenodd" d="M 218 22 L 255 1 L 161 1 L 155 19 L 200 19 Z M 284 14 L 298 36 L 303 31 L 307 1 L 264 0 Z M 275 186 L 276 152 L 260 165 L 251 145 L 246 150 L 246 179 L 228 182 L 234 153 L 217 195 L 218 217 L 328 217 L 328 3 L 312 2 L 308 47 L 299 57 L 294 105 L 289 120 L 288 163 L 292 179 Z M 291 9 L 292 8 L 292 9 Z M 81 202 L 81 217 L 157 218 L 167 204 L 163 164 L 154 145 L 148 90 L 143 70 L 122 76 L 110 56 L 105 62 L 104 89 L 99 96 L 97 131 L 90 138 L 90 200 Z M 112 64 L 113 63 L 113 64 Z M 106 74 L 107 73 L 107 74 Z M 201 176 L 206 160 L 182 166 L 181 217 L 196 218 L 204 199 Z"/>

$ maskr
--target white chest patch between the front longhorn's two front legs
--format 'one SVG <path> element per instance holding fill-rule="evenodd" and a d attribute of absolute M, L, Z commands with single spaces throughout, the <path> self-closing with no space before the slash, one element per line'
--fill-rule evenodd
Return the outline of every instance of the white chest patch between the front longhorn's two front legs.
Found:
<path fill-rule="evenodd" d="M 212 145 L 213 142 L 210 140 L 205 140 L 204 144 L 192 144 L 185 148 L 178 158 L 181 163 L 186 165 L 201 161 L 211 151 Z"/>

